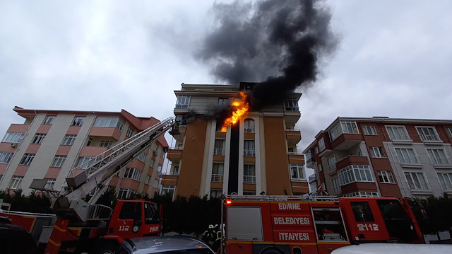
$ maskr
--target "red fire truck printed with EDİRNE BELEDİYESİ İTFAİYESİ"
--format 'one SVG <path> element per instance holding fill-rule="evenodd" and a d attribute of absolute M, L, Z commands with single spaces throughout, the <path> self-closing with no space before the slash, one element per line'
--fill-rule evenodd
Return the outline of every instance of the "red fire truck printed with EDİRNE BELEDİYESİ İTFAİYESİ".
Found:
<path fill-rule="evenodd" d="M 406 200 L 394 197 L 225 198 L 221 250 L 234 254 L 331 253 L 358 243 L 424 243 Z"/>

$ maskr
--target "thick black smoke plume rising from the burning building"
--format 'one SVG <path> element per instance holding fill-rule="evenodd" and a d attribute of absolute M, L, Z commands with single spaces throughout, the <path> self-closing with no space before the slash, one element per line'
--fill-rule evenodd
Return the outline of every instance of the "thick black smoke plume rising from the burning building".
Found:
<path fill-rule="evenodd" d="M 319 62 L 338 42 L 320 0 L 234 1 L 214 4 L 213 13 L 215 28 L 196 56 L 219 81 L 260 82 L 249 96 L 254 110 L 314 83 Z"/>

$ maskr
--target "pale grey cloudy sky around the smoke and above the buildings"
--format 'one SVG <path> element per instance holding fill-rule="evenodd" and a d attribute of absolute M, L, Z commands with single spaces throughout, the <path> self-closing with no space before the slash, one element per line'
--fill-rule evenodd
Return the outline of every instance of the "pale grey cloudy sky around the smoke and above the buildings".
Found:
<path fill-rule="evenodd" d="M 452 1 L 323 4 L 338 44 L 297 88 L 299 151 L 339 116 L 452 119 Z M 181 83 L 222 83 L 196 57 L 215 31 L 213 6 L 0 0 L 0 136 L 24 122 L 14 106 L 172 116 Z"/>

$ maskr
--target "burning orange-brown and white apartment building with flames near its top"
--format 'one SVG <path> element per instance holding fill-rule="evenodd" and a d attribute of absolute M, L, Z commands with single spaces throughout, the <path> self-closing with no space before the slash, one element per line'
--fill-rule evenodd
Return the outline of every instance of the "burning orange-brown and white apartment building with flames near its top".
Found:
<path fill-rule="evenodd" d="M 174 91 L 180 134 L 168 150 L 162 192 L 181 196 L 295 195 L 309 192 L 295 129 L 301 93 L 246 113 L 222 129 L 220 115 L 256 83 L 194 85 Z"/>

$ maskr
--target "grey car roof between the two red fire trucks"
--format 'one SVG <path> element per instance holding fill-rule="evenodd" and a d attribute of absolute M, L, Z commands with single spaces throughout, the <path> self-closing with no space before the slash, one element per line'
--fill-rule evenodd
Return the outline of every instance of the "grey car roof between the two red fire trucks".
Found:
<path fill-rule="evenodd" d="M 117 254 L 215 254 L 211 248 L 196 238 L 186 236 L 150 236 L 126 240 Z"/>

